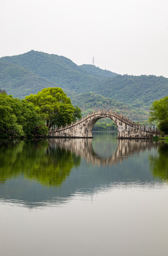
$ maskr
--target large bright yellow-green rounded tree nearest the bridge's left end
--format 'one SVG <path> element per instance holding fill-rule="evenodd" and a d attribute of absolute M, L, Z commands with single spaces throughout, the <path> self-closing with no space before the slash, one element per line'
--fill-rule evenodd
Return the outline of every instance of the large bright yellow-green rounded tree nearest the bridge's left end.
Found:
<path fill-rule="evenodd" d="M 38 94 L 26 96 L 25 100 L 33 103 L 36 112 L 46 120 L 49 128 L 65 126 L 81 118 L 80 108 L 74 108 L 70 98 L 59 87 L 45 88 Z"/>

